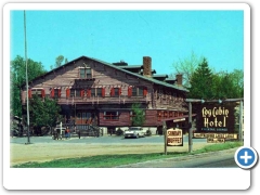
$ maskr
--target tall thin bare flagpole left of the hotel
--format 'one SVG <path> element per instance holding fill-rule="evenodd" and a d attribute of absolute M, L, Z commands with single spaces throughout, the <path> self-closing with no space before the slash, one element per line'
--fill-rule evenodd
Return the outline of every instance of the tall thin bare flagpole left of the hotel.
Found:
<path fill-rule="evenodd" d="M 27 42 L 26 42 L 26 15 L 24 11 L 24 35 L 25 35 L 25 65 L 26 65 L 26 100 L 27 100 L 27 144 L 30 143 L 29 132 L 29 95 L 28 95 L 28 60 L 27 60 Z"/>

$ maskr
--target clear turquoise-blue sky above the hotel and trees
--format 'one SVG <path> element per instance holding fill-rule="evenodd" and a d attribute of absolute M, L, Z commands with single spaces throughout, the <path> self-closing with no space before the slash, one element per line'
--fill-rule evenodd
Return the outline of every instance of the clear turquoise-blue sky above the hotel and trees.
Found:
<path fill-rule="evenodd" d="M 157 74 L 205 56 L 216 72 L 244 69 L 244 13 L 218 11 L 26 11 L 27 55 L 47 70 L 58 55 L 86 55 L 141 65 L 152 57 Z M 11 11 L 11 60 L 24 52 L 24 12 Z"/>

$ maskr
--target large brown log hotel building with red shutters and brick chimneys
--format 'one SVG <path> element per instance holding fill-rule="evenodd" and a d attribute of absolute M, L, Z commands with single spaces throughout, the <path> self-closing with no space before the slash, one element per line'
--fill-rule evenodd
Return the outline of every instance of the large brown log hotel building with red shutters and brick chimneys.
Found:
<path fill-rule="evenodd" d="M 95 125 L 104 134 L 132 126 L 131 106 L 139 103 L 145 115 L 143 128 L 152 134 L 161 134 L 164 119 L 179 118 L 176 126 L 185 130 L 187 92 L 182 86 L 182 75 L 173 79 L 156 75 L 150 56 L 143 56 L 141 65 L 110 64 L 80 56 L 29 81 L 28 98 L 57 99 L 63 122 L 75 130 Z M 25 117 L 26 86 L 21 95 Z"/>

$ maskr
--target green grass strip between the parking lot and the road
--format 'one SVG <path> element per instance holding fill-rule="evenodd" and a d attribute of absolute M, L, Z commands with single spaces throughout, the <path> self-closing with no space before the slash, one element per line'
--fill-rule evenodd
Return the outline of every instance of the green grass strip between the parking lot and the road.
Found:
<path fill-rule="evenodd" d="M 226 142 L 212 144 L 202 150 L 194 151 L 193 154 L 217 152 L 243 146 L 242 142 Z M 141 162 L 153 159 L 171 158 L 191 155 L 190 153 L 153 153 L 153 154 L 126 154 L 126 155 L 96 155 L 91 157 L 66 158 L 46 162 L 26 162 L 13 166 L 13 168 L 110 168 L 120 165 Z"/>

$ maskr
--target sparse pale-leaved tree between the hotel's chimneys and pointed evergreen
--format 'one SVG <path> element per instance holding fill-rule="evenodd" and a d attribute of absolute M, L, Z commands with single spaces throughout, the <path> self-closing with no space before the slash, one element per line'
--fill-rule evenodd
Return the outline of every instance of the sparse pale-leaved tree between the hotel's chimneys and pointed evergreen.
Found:
<path fill-rule="evenodd" d="M 192 75 L 194 74 L 199 62 L 202 62 L 202 58 L 199 60 L 195 53 L 192 52 L 190 57 L 186 57 L 183 61 L 179 60 L 179 62 L 173 63 L 172 66 L 174 68 L 174 74 L 171 74 L 170 77 L 174 78 L 176 74 L 182 74 L 183 86 L 190 88 Z"/>

